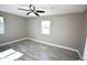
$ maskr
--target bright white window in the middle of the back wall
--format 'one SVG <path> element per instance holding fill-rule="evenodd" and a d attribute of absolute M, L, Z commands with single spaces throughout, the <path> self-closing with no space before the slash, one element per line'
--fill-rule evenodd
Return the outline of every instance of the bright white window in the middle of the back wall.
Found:
<path fill-rule="evenodd" d="M 51 21 L 42 21 L 42 34 L 50 34 Z"/>

